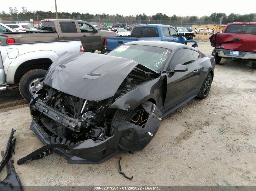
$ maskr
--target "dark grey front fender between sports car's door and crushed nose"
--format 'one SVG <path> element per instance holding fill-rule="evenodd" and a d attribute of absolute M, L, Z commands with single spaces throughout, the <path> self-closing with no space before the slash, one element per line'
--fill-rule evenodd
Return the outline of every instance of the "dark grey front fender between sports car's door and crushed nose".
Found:
<path fill-rule="evenodd" d="M 138 88 L 135 88 L 127 94 L 117 98 L 116 101 L 111 106 L 109 106 L 109 108 L 116 108 L 126 111 L 134 110 L 136 107 L 141 105 L 141 103 L 144 103 L 150 99 L 153 99 L 157 106 L 162 106 L 162 92 L 161 79 L 155 78 L 154 80 L 148 81 Z"/>

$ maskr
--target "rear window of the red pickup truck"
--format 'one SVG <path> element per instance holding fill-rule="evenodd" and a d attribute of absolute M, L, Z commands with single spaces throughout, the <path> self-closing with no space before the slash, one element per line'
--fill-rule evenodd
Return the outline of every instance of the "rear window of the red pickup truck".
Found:
<path fill-rule="evenodd" d="M 232 24 L 225 33 L 256 34 L 256 24 Z"/>

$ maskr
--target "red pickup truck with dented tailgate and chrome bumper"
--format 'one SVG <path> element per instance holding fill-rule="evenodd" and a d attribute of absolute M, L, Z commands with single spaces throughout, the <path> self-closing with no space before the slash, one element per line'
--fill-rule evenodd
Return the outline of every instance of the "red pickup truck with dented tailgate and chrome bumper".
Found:
<path fill-rule="evenodd" d="M 212 55 L 216 64 L 221 58 L 249 59 L 256 61 L 256 23 L 229 23 L 222 33 L 215 33 L 210 37 L 214 47 Z M 256 63 L 252 63 L 256 69 Z"/>

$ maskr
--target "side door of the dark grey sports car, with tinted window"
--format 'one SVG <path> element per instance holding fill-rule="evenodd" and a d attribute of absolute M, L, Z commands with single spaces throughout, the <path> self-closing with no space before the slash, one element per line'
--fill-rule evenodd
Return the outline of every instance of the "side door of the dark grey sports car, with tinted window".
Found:
<path fill-rule="evenodd" d="M 191 49 L 178 49 L 169 64 L 166 77 L 165 111 L 198 92 L 200 54 Z M 187 65 L 185 72 L 172 72 L 176 65 Z"/>

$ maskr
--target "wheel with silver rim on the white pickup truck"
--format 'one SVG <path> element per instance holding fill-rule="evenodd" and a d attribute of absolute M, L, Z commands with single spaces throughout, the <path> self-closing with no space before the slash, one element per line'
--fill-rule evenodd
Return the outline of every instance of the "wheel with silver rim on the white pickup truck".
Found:
<path fill-rule="evenodd" d="M 30 102 L 35 92 L 42 88 L 39 80 L 45 76 L 46 72 L 46 70 L 35 69 L 28 71 L 22 76 L 19 83 L 19 90 L 25 100 Z"/>

